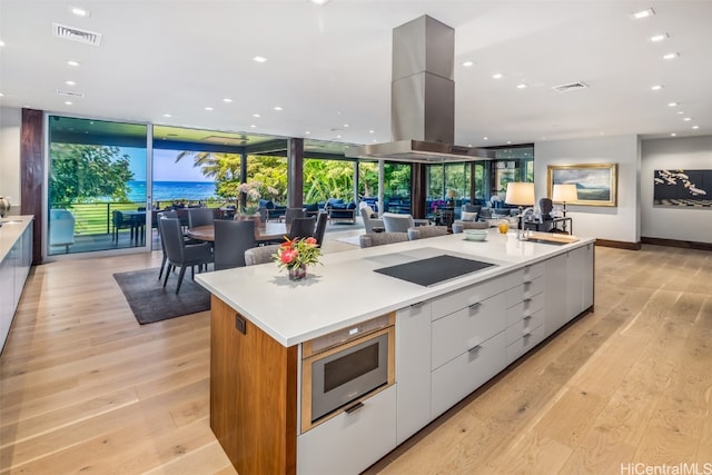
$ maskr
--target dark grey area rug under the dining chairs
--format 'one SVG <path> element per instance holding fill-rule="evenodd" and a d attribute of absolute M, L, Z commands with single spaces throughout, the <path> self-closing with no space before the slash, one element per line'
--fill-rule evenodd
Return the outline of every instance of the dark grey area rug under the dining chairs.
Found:
<path fill-rule="evenodd" d="M 189 269 L 186 270 L 178 295 L 178 273 L 168 277 L 168 285 L 164 288 L 158 271 L 155 268 L 113 275 L 139 324 L 152 324 L 210 309 L 210 293 L 192 281 Z"/>

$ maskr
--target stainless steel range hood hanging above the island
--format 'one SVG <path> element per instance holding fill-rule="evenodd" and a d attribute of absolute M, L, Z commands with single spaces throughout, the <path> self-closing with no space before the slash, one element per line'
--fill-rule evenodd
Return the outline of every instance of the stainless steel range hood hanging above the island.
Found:
<path fill-rule="evenodd" d="M 393 30 L 393 141 L 348 147 L 347 157 L 441 164 L 494 158 L 455 139 L 455 30 L 423 16 Z"/>

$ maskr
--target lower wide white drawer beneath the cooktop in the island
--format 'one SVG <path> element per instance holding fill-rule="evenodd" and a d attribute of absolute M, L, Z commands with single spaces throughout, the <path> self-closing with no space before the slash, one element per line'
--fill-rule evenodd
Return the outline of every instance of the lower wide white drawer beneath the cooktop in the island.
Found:
<path fill-rule="evenodd" d="M 482 386 L 506 366 L 504 331 L 484 342 L 473 352 L 433 372 L 432 416 L 437 417 L 455 403 Z"/>

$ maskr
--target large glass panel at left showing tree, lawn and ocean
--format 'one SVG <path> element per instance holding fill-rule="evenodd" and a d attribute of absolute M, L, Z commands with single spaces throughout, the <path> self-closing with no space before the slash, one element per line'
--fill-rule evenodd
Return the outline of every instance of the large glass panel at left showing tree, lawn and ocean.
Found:
<path fill-rule="evenodd" d="M 148 126 L 48 116 L 47 255 L 145 247 Z"/>

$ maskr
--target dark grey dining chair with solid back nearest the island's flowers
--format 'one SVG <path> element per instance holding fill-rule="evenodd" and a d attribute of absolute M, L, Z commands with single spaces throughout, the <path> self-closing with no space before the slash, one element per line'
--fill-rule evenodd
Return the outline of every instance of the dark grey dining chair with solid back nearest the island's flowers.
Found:
<path fill-rule="evenodd" d="M 245 266 L 245 251 L 255 247 L 255 221 L 215 220 L 215 270 Z"/>

